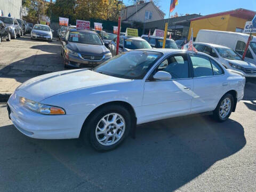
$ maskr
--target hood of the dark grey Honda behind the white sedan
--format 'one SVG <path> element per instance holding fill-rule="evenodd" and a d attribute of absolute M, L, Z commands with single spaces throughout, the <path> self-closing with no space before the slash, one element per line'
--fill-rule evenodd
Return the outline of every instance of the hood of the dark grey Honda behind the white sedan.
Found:
<path fill-rule="evenodd" d="M 83 43 L 71 43 L 67 45 L 68 49 L 85 55 L 100 55 L 109 52 L 105 45 L 90 45 Z"/>

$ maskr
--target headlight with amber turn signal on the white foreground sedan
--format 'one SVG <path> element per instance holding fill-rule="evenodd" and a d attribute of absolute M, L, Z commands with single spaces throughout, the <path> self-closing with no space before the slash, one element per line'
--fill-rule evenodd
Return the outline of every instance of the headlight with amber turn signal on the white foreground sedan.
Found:
<path fill-rule="evenodd" d="M 42 103 L 31 101 L 24 97 L 20 97 L 20 103 L 24 107 L 43 115 L 65 115 L 66 114 L 65 110 L 62 109 L 61 107 L 44 105 Z"/>

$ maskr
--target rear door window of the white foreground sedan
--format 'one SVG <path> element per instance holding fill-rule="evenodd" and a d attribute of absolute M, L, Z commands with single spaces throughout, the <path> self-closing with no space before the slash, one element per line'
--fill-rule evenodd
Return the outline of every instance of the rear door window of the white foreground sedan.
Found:
<path fill-rule="evenodd" d="M 190 54 L 190 58 L 193 65 L 194 77 L 213 76 L 212 65 L 209 58 L 198 54 Z"/>

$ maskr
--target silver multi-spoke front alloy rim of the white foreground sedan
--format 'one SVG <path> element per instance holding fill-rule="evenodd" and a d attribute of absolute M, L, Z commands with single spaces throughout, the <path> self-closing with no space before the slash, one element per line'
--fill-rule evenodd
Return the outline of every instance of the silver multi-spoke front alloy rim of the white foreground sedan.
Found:
<path fill-rule="evenodd" d="M 125 131 L 125 120 L 118 113 L 110 113 L 100 119 L 95 129 L 97 141 L 104 146 L 114 145 Z"/>

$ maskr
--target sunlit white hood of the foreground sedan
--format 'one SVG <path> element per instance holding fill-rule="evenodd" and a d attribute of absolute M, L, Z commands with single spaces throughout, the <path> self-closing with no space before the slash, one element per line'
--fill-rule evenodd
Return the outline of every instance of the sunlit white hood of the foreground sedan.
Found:
<path fill-rule="evenodd" d="M 60 93 L 93 86 L 131 81 L 96 73 L 87 69 L 58 71 L 34 77 L 21 84 L 16 92 L 20 97 L 42 101 Z"/>

